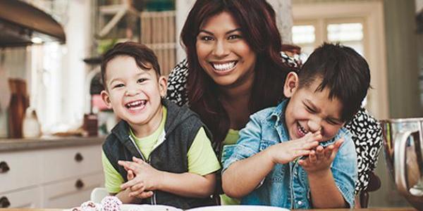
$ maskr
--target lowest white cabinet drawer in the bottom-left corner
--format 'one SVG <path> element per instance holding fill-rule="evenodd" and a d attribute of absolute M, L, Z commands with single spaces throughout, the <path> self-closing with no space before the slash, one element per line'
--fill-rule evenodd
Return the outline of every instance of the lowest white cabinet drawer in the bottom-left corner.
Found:
<path fill-rule="evenodd" d="M 42 201 L 41 188 L 0 193 L 0 208 L 39 208 Z"/>

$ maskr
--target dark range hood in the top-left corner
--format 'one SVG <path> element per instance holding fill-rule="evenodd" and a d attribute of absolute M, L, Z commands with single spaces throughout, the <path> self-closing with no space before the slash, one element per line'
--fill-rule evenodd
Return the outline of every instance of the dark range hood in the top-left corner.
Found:
<path fill-rule="evenodd" d="M 24 1 L 0 0 L 0 47 L 27 46 L 35 37 L 66 41 L 63 27 L 51 15 Z"/>

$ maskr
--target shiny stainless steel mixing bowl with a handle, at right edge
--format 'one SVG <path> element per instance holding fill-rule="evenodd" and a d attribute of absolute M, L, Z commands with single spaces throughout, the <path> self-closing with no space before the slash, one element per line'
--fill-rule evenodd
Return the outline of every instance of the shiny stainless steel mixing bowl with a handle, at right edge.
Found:
<path fill-rule="evenodd" d="M 381 121 L 384 154 L 398 191 L 423 210 L 423 118 Z"/>

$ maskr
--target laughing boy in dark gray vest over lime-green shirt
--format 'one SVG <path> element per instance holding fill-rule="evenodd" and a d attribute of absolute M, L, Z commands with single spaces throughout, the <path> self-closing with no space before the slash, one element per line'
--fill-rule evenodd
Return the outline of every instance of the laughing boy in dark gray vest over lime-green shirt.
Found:
<path fill-rule="evenodd" d="M 121 119 L 103 144 L 105 186 L 123 203 L 212 205 L 220 169 L 211 134 L 197 114 L 164 99 L 151 49 L 116 44 L 102 60 L 102 99 Z"/>

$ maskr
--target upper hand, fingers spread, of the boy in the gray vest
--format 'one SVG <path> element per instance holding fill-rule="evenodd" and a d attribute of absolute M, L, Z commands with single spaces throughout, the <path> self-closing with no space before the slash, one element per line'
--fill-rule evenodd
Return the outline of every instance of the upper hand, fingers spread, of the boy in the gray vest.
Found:
<path fill-rule="evenodd" d="M 152 196 L 152 191 L 158 188 L 158 181 L 161 180 L 160 171 L 135 157 L 133 158 L 133 162 L 119 160 L 118 164 L 123 166 L 125 170 L 128 170 L 128 174 L 129 171 L 135 173 L 133 179 L 121 185 L 122 189 L 130 188 L 130 197 L 139 196 L 140 198 L 148 198 Z"/>

